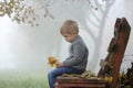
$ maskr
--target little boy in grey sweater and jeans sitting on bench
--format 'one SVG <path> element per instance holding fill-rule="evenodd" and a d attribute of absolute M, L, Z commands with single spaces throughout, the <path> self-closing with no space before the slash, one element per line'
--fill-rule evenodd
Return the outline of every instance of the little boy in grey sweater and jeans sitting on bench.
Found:
<path fill-rule="evenodd" d="M 69 57 L 64 62 L 58 62 L 57 68 L 48 74 L 50 88 L 54 88 L 55 79 L 62 74 L 82 74 L 86 69 L 89 51 L 79 35 L 79 26 L 75 21 L 66 20 L 60 30 L 64 40 L 71 43 Z"/>

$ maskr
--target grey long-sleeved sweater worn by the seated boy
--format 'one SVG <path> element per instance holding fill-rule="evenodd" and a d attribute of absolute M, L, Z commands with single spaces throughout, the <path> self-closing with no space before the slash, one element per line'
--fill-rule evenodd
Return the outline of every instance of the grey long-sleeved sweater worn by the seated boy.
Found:
<path fill-rule="evenodd" d="M 89 51 L 80 35 L 78 35 L 71 43 L 69 52 L 69 57 L 63 62 L 64 66 L 85 70 L 88 65 Z"/>

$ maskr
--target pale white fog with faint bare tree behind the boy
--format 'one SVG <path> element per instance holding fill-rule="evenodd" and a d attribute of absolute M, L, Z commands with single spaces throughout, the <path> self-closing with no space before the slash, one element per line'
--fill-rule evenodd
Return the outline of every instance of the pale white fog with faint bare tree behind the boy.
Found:
<path fill-rule="evenodd" d="M 80 35 L 89 48 L 88 69 L 98 73 L 100 59 L 108 55 L 106 50 L 113 37 L 116 18 L 126 18 L 131 29 L 133 28 L 133 1 L 98 0 L 98 2 L 101 6 L 95 10 L 85 0 L 52 0 L 49 9 L 54 19 L 41 18 L 39 26 L 18 24 L 8 15 L 0 18 L 0 74 L 7 72 L 48 74 L 54 68 L 48 65 L 49 56 L 54 56 L 59 61 L 65 59 L 70 44 L 61 36 L 60 26 L 68 19 L 78 21 Z M 126 70 L 131 62 L 133 62 L 132 30 L 121 70 Z"/>

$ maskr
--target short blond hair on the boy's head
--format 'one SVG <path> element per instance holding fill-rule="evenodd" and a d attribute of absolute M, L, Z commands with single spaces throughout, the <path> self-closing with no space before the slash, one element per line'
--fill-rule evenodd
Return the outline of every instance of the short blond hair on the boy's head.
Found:
<path fill-rule="evenodd" d="M 61 34 L 68 33 L 68 34 L 78 34 L 79 33 L 79 26 L 75 21 L 66 20 L 62 24 L 60 29 Z"/>

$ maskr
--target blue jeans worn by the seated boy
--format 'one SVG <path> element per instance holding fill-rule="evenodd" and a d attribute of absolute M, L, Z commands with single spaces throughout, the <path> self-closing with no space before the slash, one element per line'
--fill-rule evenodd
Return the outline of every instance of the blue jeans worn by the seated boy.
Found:
<path fill-rule="evenodd" d="M 57 77 L 61 76 L 62 74 L 82 74 L 82 73 L 83 70 L 79 70 L 72 67 L 55 68 L 48 74 L 49 87 L 54 88 Z"/>

